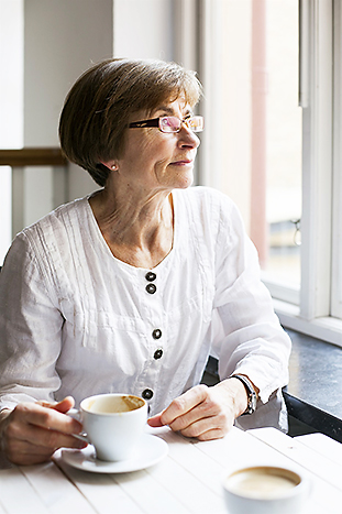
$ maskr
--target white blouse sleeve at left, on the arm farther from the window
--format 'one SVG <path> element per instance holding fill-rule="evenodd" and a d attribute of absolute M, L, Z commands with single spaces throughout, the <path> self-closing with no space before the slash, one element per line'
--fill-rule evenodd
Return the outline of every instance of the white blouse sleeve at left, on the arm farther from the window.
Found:
<path fill-rule="evenodd" d="M 59 387 L 63 317 L 56 305 L 44 265 L 22 232 L 0 273 L 0 409 L 53 400 Z"/>

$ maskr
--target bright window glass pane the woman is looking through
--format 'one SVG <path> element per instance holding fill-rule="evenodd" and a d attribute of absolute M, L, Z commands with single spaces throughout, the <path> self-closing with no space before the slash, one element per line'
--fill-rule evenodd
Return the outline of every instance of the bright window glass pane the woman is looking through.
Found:
<path fill-rule="evenodd" d="M 298 1 L 230 0 L 211 7 L 214 56 L 207 59 L 205 75 L 210 134 L 203 135 L 210 139 L 210 152 L 202 183 L 238 204 L 264 280 L 284 286 L 272 293 L 296 291 L 296 303 L 301 217 Z"/>

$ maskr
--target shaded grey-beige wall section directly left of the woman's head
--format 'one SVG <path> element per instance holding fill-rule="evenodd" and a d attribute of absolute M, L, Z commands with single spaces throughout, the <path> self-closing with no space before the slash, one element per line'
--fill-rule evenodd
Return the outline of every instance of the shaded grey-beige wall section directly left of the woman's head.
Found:
<path fill-rule="evenodd" d="M 24 1 L 24 145 L 57 146 L 64 99 L 76 78 L 113 54 L 112 0 Z M 26 169 L 25 225 L 55 205 L 52 171 Z M 37 187 L 44 195 L 32 203 Z M 69 166 L 66 200 L 97 186 L 88 174 Z M 32 206 L 32 207 L 30 207 Z"/>

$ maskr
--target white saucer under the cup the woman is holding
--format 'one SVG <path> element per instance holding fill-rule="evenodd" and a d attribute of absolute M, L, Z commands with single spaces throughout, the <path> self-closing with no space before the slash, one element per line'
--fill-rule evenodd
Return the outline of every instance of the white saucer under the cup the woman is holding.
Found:
<path fill-rule="evenodd" d="M 167 456 L 168 446 L 164 439 L 144 434 L 139 444 L 137 450 L 131 459 L 120 462 L 106 462 L 96 458 L 95 448 L 88 445 L 84 450 L 65 449 L 60 453 L 64 462 L 73 468 L 93 473 L 126 473 L 137 471 L 150 466 L 156 464 Z"/>

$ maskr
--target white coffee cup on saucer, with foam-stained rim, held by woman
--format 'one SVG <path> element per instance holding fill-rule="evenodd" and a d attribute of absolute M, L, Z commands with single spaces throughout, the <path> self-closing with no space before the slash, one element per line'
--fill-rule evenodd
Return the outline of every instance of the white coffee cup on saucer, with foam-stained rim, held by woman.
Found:
<path fill-rule="evenodd" d="M 146 402 L 131 394 L 98 394 L 80 403 L 78 412 L 86 434 L 76 435 L 93 445 L 97 458 L 129 459 L 143 435 L 147 420 Z M 75 416 L 75 409 L 70 413 Z"/>

